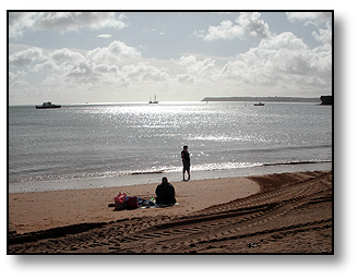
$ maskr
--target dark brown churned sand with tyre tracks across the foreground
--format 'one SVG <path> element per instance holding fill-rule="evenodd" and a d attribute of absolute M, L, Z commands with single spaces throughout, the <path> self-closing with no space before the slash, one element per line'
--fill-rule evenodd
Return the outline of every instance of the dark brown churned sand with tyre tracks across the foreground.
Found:
<path fill-rule="evenodd" d="M 297 174 L 275 174 L 274 179 L 267 175 L 266 183 L 279 182 L 279 176 L 286 176 L 287 182 L 287 176 L 291 176 L 290 183 L 188 216 L 118 221 L 56 240 L 16 244 L 13 249 L 114 254 L 273 253 L 278 245 L 281 249 L 287 247 L 287 253 L 305 252 L 308 235 L 323 236 L 325 243 L 332 241 L 332 171 L 299 174 L 298 178 Z M 317 247 L 319 252 L 332 252 L 332 246 Z"/>

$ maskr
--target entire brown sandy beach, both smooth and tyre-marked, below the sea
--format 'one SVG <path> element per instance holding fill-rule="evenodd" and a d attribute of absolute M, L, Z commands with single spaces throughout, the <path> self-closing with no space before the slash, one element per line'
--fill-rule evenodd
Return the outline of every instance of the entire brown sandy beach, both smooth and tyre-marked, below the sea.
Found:
<path fill-rule="evenodd" d="M 332 171 L 172 182 L 179 205 L 114 211 L 157 184 L 9 194 L 9 254 L 332 254 Z"/>

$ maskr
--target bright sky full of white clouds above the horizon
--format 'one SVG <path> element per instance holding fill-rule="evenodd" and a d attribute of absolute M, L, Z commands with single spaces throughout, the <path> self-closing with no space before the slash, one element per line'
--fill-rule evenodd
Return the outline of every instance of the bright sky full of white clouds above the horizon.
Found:
<path fill-rule="evenodd" d="M 331 94 L 331 13 L 9 13 L 10 105 Z"/>

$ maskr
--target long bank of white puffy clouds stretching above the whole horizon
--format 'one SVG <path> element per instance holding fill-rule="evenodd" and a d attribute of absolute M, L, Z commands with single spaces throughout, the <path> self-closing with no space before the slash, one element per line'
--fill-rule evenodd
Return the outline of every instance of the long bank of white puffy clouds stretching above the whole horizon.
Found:
<path fill-rule="evenodd" d="M 160 90 L 169 95 L 168 88 L 181 88 L 190 98 L 198 93 L 309 96 L 312 92 L 324 94 L 332 86 L 332 48 L 324 45 L 310 49 L 293 33 L 263 39 L 258 47 L 237 54 L 224 66 L 212 58 L 193 54 L 165 63 L 146 60 L 135 48 L 121 41 L 83 53 L 33 48 L 19 51 L 12 58 L 13 65 L 27 66 L 32 75 L 38 75 L 40 83 L 36 86 L 25 72 L 13 72 L 11 93 L 31 86 L 38 93 L 56 88 L 61 96 L 64 92 L 72 93 L 82 100 L 88 92 L 106 92 L 110 96 L 121 88 L 126 88 L 126 93 L 141 93 L 139 100 L 146 100 L 150 94 Z"/>

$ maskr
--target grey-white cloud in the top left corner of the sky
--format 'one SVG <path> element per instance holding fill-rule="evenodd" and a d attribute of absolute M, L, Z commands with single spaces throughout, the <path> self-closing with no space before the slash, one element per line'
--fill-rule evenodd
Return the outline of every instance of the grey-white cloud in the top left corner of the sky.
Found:
<path fill-rule="evenodd" d="M 124 14 L 114 12 L 11 12 L 9 13 L 10 38 L 21 37 L 27 31 L 55 29 L 60 33 L 79 31 L 83 27 L 117 29 L 128 26 Z"/>

